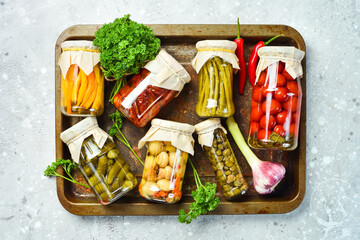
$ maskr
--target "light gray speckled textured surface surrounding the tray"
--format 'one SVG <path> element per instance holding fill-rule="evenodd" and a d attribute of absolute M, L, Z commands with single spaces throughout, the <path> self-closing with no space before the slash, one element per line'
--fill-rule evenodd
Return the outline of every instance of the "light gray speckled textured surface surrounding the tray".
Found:
<path fill-rule="evenodd" d="M 0 0 L 0 239 L 359 239 L 360 1 Z M 283 215 L 79 217 L 43 170 L 55 156 L 54 45 L 74 24 L 287 24 L 307 44 L 307 188 Z"/>

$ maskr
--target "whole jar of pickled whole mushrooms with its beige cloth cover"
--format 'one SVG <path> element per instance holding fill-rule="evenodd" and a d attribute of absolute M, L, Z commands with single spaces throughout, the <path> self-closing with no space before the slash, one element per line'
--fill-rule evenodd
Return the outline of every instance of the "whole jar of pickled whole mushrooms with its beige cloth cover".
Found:
<path fill-rule="evenodd" d="M 152 120 L 139 148 L 147 145 L 145 166 L 139 184 L 140 195 L 160 203 L 181 199 L 188 155 L 194 153 L 194 127 L 184 123 Z M 176 137 L 175 137 L 176 136 Z"/>

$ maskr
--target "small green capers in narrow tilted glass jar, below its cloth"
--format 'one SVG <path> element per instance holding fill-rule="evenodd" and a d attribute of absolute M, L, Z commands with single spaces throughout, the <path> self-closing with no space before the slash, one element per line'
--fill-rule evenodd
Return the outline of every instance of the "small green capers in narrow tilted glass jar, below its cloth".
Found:
<path fill-rule="evenodd" d="M 214 130 L 213 144 L 211 147 L 204 146 L 204 150 L 226 198 L 236 198 L 249 189 L 230 143 L 221 129 Z"/>

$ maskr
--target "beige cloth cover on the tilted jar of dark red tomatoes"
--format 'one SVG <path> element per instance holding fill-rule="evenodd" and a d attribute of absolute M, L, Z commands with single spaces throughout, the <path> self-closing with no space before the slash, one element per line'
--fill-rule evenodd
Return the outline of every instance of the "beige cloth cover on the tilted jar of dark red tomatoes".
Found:
<path fill-rule="evenodd" d="M 152 85 L 181 92 L 191 77 L 185 68 L 164 49 L 145 67 L 152 73 Z"/>

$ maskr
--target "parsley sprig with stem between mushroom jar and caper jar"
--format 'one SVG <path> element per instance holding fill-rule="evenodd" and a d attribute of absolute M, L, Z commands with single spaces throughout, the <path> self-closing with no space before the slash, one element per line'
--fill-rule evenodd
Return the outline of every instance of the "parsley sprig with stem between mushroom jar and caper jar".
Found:
<path fill-rule="evenodd" d="M 192 220 L 196 220 L 196 218 L 200 214 L 206 214 L 208 211 L 213 211 L 217 208 L 220 203 L 218 197 L 216 197 L 216 183 L 205 183 L 203 185 L 201 183 L 198 172 L 196 171 L 193 163 L 189 158 L 189 162 L 194 171 L 194 178 L 197 189 L 192 191 L 191 196 L 195 200 L 195 202 L 190 204 L 190 211 L 185 213 L 183 209 L 179 211 L 179 222 L 189 224 Z"/>

